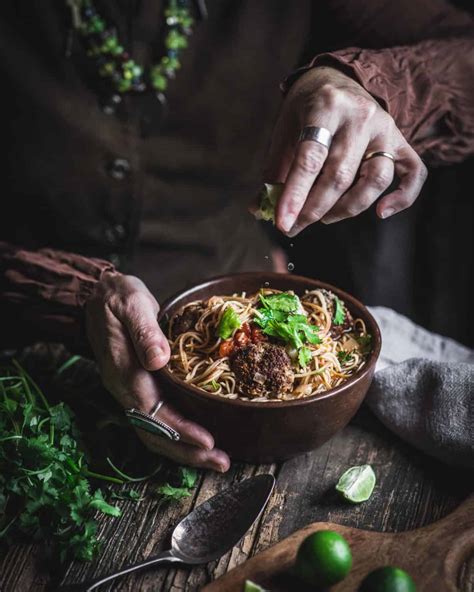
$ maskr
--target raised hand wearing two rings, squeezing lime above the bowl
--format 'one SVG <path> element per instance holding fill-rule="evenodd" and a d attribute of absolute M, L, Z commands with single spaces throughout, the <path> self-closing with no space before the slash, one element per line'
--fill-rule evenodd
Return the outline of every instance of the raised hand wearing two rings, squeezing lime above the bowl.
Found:
<path fill-rule="evenodd" d="M 306 126 L 333 134 L 329 150 L 299 142 Z M 362 161 L 364 154 L 384 151 Z M 399 184 L 377 204 L 380 218 L 408 208 L 417 198 L 427 170 L 392 117 L 366 90 L 333 68 L 313 68 L 290 89 L 277 121 L 266 180 L 285 183 L 276 212 L 277 227 L 295 236 L 309 224 L 357 216 L 384 193 L 396 172 Z"/>

